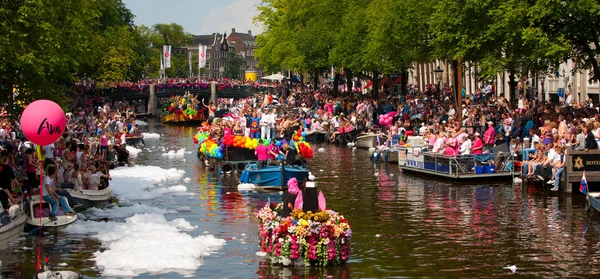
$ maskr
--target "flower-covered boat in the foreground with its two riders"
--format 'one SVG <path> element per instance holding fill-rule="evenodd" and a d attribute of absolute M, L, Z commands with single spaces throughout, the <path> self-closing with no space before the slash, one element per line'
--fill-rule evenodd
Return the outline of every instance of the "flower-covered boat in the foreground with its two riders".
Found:
<path fill-rule="evenodd" d="M 283 198 L 290 203 L 293 199 L 293 211 L 285 210 L 283 203 L 267 202 L 257 212 L 260 251 L 256 254 L 284 266 L 346 263 L 352 237 L 348 220 L 327 209 L 325 197 L 322 192 L 317 194 L 314 182 L 306 182 L 302 190 L 297 185 L 290 180 Z"/>

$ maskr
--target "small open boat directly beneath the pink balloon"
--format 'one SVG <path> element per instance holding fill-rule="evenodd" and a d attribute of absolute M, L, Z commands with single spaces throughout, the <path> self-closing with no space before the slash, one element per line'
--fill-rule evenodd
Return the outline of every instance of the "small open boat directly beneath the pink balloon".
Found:
<path fill-rule="evenodd" d="M 42 226 L 46 228 L 62 228 L 77 221 L 77 215 L 66 215 L 62 207 L 58 209 L 56 220 L 51 221 L 49 218 L 51 209 L 52 206 L 49 203 L 42 201 L 42 211 L 40 212 L 40 197 L 37 195 L 31 197 L 28 205 L 27 226 L 39 227 L 40 216 L 42 217 Z"/>

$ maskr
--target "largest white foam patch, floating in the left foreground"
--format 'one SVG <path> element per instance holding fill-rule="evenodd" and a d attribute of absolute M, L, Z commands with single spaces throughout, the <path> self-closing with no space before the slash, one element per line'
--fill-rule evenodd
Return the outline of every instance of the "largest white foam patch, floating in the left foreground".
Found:
<path fill-rule="evenodd" d="M 172 271 L 193 274 L 202 257 L 225 244 L 212 235 L 192 237 L 184 232 L 193 229 L 182 218 L 167 221 L 160 214 L 136 214 L 125 222 L 79 221 L 65 231 L 91 234 L 102 242 L 106 249 L 95 252 L 93 260 L 104 268 L 102 276 L 106 277 Z"/>

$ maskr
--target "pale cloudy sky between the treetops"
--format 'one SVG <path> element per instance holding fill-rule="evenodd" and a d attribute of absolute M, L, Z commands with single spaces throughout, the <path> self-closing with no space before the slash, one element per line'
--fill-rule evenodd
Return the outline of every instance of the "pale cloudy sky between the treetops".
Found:
<path fill-rule="evenodd" d="M 236 32 L 259 34 L 252 23 L 261 0 L 124 0 L 135 15 L 136 25 L 177 23 L 194 35 Z"/>

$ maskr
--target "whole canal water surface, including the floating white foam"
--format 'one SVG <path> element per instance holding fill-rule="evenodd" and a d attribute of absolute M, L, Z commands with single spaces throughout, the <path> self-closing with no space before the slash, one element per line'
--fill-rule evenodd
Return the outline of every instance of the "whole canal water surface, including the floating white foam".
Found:
<path fill-rule="evenodd" d="M 208 171 L 196 157 L 193 128 L 150 121 L 146 132 L 154 138 L 136 150 L 135 166 L 112 172 L 119 200 L 80 213 L 65 230 L 0 247 L 2 278 L 32 278 L 38 245 L 55 269 L 86 278 L 600 276 L 600 217 L 585 213 L 578 193 L 493 180 L 456 185 L 325 144 L 313 146 L 308 166 L 328 207 L 352 226 L 351 260 L 271 266 L 255 255 L 254 213 L 280 194 L 238 190 L 235 178 Z"/>

